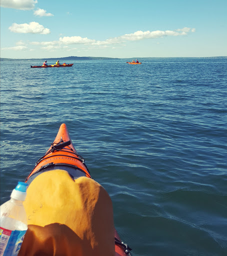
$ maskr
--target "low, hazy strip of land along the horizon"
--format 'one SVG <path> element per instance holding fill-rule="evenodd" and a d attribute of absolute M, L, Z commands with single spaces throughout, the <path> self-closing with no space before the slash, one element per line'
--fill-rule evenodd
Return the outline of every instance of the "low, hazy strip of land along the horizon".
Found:
<path fill-rule="evenodd" d="M 111 59 L 132 59 L 135 57 L 128 58 L 111 58 L 111 57 L 77 57 L 77 56 L 68 56 L 68 57 L 55 57 L 55 58 L 2 58 L 0 57 L 0 61 L 13 61 L 13 60 L 111 60 Z M 157 58 L 227 58 L 227 56 L 212 56 L 212 57 L 136 57 L 138 59 L 157 59 Z"/>

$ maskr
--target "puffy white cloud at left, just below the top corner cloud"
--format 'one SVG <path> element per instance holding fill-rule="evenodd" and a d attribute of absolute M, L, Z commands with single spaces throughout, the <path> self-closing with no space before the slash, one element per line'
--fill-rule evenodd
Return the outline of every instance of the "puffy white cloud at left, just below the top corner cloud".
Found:
<path fill-rule="evenodd" d="M 48 28 L 44 28 L 43 25 L 40 25 L 38 22 L 30 22 L 29 24 L 17 24 L 13 23 L 8 28 L 10 31 L 15 33 L 33 33 L 33 34 L 49 34 L 50 30 Z"/>

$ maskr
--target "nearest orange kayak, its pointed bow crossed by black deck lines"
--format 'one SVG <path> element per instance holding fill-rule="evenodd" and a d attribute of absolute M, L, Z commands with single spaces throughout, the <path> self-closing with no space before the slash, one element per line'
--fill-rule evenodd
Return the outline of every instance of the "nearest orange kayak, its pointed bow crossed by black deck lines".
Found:
<path fill-rule="evenodd" d="M 64 123 L 60 125 L 58 133 L 46 153 L 36 161 L 25 182 L 29 185 L 40 173 L 54 169 L 66 170 L 74 179 L 80 176 L 91 178 L 84 158 L 75 150 Z M 121 241 L 115 229 L 115 256 L 130 255 L 130 250 L 131 248 Z"/>

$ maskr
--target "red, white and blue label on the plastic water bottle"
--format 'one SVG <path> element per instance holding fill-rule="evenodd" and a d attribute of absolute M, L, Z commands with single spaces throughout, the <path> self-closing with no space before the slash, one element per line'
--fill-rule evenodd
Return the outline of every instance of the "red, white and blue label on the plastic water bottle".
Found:
<path fill-rule="evenodd" d="M 9 230 L 0 227 L 0 256 L 16 256 L 21 247 L 26 230 Z"/>

